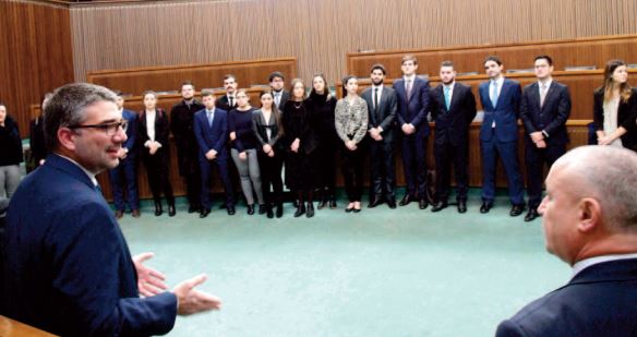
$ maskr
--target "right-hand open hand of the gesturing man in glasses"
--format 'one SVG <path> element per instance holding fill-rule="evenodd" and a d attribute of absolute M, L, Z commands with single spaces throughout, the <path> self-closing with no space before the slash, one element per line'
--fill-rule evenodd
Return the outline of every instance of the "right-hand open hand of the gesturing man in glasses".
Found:
<path fill-rule="evenodd" d="M 177 296 L 177 314 L 187 316 L 208 310 L 219 310 L 221 300 L 216 296 L 194 289 L 206 281 L 204 274 L 184 280 L 177 285 L 172 292 Z"/>

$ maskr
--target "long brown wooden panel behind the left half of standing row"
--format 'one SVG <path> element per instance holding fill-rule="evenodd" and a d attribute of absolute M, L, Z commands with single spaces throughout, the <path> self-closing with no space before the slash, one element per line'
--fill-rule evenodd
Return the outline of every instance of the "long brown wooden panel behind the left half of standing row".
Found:
<path fill-rule="evenodd" d="M 217 62 L 175 67 L 146 67 L 125 70 L 94 71 L 86 81 L 119 89 L 127 94 L 141 95 L 145 91 L 181 91 L 181 83 L 192 81 L 197 88 L 220 87 L 226 74 L 237 76 L 240 87 L 267 85 L 267 76 L 281 71 L 289 79 L 297 75 L 295 58 L 264 59 L 242 62 Z"/>

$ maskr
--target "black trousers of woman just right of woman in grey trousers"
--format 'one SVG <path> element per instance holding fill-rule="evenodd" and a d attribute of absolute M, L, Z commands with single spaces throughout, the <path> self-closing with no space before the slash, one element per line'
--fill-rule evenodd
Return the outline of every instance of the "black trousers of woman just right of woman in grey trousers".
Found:
<path fill-rule="evenodd" d="M 275 152 L 274 157 L 269 157 L 262 151 L 257 152 L 259 167 L 261 168 L 261 189 L 263 197 L 267 204 L 283 203 L 284 182 L 281 180 L 281 169 L 284 167 L 283 151 Z M 271 190 L 272 189 L 272 190 Z"/>

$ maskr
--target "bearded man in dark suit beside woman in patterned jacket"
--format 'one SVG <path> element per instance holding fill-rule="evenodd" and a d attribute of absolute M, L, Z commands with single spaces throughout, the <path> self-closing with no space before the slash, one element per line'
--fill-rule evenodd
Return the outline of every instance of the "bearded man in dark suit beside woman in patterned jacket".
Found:
<path fill-rule="evenodd" d="M 372 86 L 361 97 L 368 104 L 370 134 L 370 165 L 372 185 L 369 208 L 383 202 L 396 208 L 396 168 L 394 167 L 394 120 L 398 98 L 396 92 L 383 85 L 387 71 L 383 64 L 374 64 L 370 70 Z"/>

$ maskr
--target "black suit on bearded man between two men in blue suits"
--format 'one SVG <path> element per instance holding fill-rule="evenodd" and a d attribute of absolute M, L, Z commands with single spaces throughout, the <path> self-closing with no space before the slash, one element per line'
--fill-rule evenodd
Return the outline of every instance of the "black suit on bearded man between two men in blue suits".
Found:
<path fill-rule="evenodd" d="M 471 86 L 455 82 L 450 103 L 445 103 L 444 85 L 432 89 L 432 117 L 435 121 L 434 156 L 436 167 L 436 201 L 449 197 L 450 166 L 456 174 L 456 200 L 466 202 L 469 190 L 469 127 L 476 117 L 476 97 Z"/>

